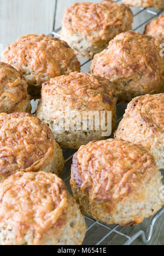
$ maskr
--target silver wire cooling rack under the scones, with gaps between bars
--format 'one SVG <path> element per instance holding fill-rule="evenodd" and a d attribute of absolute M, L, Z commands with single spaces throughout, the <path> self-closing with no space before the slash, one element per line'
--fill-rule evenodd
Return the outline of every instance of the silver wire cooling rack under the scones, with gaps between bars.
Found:
<path fill-rule="evenodd" d="M 73 1 L 73 3 L 74 2 L 75 1 Z M 77 2 L 80 2 L 80 0 Z M 91 0 L 91 2 L 94 2 L 94 1 Z M 118 0 L 115 2 L 122 3 L 123 1 Z M 61 2 L 56 0 L 55 13 L 54 13 L 54 27 L 53 27 L 53 31 L 50 33 L 51 36 L 55 36 L 55 37 L 59 37 L 60 30 L 61 30 L 61 27 L 56 28 L 55 26 L 56 19 L 57 19 L 56 18 L 57 9 L 60 4 Z M 157 16 L 159 16 L 162 13 L 162 11 L 154 10 L 152 8 L 150 9 L 132 8 L 132 11 L 134 15 L 133 31 L 139 31 L 140 33 L 143 33 L 145 24 L 147 24 L 150 20 L 155 19 Z M 80 59 L 80 63 L 81 63 L 81 71 L 89 72 L 91 60 L 86 60 L 85 58 L 82 58 Z M 122 119 L 122 115 L 124 114 L 125 109 L 126 109 L 126 105 L 123 105 L 121 103 L 117 104 L 117 125 Z M 63 149 L 63 154 L 65 155 L 65 158 L 66 158 L 66 166 L 65 166 L 65 169 L 63 170 L 61 178 L 63 179 L 63 181 L 65 181 L 70 193 L 71 193 L 71 187 L 69 184 L 70 172 L 68 170 L 71 169 L 72 156 L 74 153 L 75 153 L 75 150 Z M 120 225 L 106 225 L 106 224 L 97 222 L 92 218 L 86 216 L 85 214 L 87 232 L 86 232 L 83 245 L 113 245 L 113 244 L 131 245 L 134 241 L 136 241 L 138 237 L 141 237 L 142 242 L 146 245 L 151 241 L 151 238 L 153 238 L 153 230 L 155 228 L 155 223 L 157 222 L 157 220 L 159 220 L 160 216 L 163 213 L 164 213 L 164 207 L 153 218 L 149 218 L 144 221 L 144 228 L 147 229 L 149 227 L 147 230 L 147 235 L 145 234 L 146 232 L 142 230 L 143 228 L 142 224 L 137 225 L 137 229 L 131 228 L 131 227 L 122 228 Z M 131 231 L 130 229 L 132 229 L 133 231 Z M 127 235 L 129 232 L 131 233 L 131 235 Z"/>

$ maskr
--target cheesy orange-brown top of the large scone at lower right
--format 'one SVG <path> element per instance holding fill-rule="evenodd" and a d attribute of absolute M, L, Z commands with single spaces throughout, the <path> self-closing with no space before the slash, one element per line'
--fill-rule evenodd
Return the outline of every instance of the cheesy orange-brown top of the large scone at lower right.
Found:
<path fill-rule="evenodd" d="M 107 139 L 90 142 L 75 153 L 71 183 L 85 190 L 90 202 L 109 202 L 113 209 L 156 173 L 155 160 L 144 147 Z M 144 194 L 136 194 L 136 201 L 143 198 Z"/>

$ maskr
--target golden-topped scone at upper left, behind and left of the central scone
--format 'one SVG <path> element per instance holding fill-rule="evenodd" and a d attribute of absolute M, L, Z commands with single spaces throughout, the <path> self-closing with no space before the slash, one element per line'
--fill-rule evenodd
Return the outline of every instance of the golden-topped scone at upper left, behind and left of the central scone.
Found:
<path fill-rule="evenodd" d="M 57 75 L 80 71 L 80 63 L 66 42 L 40 34 L 27 34 L 9 44 L 2 61 L 24 74 L 32 98 L 40 95 L 42 83 Z"/>

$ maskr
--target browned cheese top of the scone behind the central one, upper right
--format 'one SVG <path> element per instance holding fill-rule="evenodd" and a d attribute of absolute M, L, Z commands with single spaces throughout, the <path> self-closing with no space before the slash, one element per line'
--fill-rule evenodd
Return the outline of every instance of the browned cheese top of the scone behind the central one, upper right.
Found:
<path fill-rule="evenodd" d="M 115 82 L 146 75 L 145 79 L 163 79 L 163 57 L 160 40 L 138 32 L 127 31 L 109 42 L 108 48 L 96 54 L 91 65 L 94 75 Z"/>

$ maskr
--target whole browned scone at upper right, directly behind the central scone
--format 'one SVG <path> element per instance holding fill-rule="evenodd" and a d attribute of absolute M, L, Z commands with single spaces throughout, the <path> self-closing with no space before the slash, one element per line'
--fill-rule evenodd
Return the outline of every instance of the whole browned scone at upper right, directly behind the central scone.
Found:
<path fill-rule="evenodd" d="M 91 73 L 115 83 L 118 100 L 163 92 L 164 58 L 160 40 L 128 31 L 116 36 L 108 48 L 96 54 Z"/>

